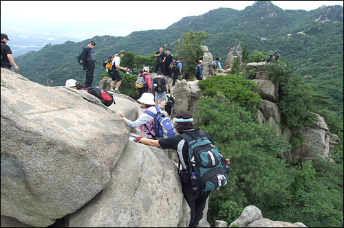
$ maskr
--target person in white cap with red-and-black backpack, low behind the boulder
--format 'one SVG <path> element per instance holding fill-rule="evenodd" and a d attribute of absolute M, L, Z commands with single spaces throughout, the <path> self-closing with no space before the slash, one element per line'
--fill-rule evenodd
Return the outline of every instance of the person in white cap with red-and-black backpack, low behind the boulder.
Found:
<path fill-rule="evenodd" d="M 107 92 L 105 89 L 100 87 L 87 87 L 85 88 L 83 84 L 80 84 L 74 79 L 68 79 L 65 81 L 65 86 L 72 89 L 81 90 L 85 93 L 89 93 L 98 98 L 105 106 L 110 106 L 111 104 L 116 104 L 114 97 L 111 93 Z"/>

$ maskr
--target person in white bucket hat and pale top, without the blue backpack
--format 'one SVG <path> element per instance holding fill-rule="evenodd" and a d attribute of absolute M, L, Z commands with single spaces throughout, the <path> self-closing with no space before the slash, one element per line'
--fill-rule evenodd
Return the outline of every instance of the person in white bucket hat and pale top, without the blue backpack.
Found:
<path fill-rule="evenodd" d="M 154 106 L 155 102 L 153 93 L 143 93 L 140 99 L 138 99 L 138 102 L 140 102 L 141 106 L 145 109 L 144 112 L 150 111 L 154 114 L 157 113 L 157 110 Z M 154 118 L 151 115 L 144 112 L 134 122 L 127 119 L 122 113 L 119 113 L 119 115 L 122 117 L 127 126 L 130 126 L 131 128 L 138 128 L 142 135 L 144 135 L 144 132 L 146 132 L 147 138 L 155 139 L 155 132 L 153 130 Z"/>

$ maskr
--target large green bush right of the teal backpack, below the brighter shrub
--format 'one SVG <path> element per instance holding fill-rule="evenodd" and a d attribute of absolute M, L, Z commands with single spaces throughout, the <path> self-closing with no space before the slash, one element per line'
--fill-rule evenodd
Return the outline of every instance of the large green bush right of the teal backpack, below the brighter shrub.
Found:
<path fill-rule="evenodd" d="M 275 128 L 259 124 L 239 104 L 228 104 L 224 95 L 204 97 L 199 107 L 197 119 L 202 123 L 199 128 L 211 135 L 222 154 L 231 161 L 228 185 L 214 194 L 216 198 L 211 198 L 211 219 L 217 219 L 219 210 L 226 212 L 228 207 L 236 209 L 235 214 L 226 218 L 230 223 L 247 204 L 262 210 L 285 205 L 290 198 L 288 186 L 292 173 L 277 155 L 290 146 L 282 137 L 275 136 Z"/>

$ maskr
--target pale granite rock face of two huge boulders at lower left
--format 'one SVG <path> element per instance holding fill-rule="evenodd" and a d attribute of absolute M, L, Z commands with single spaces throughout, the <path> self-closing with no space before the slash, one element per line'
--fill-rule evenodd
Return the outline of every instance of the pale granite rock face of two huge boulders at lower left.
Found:
<path fill-rule="evenodd" d="M 136 118 L 140 110 L 122 99 L 108 108 L 89 93 L 1 69 L 1 227 L 58 218 L 80 227 L 178 225 L 175 165 L 158 148 L 129 143 L 115 111 Z"/>

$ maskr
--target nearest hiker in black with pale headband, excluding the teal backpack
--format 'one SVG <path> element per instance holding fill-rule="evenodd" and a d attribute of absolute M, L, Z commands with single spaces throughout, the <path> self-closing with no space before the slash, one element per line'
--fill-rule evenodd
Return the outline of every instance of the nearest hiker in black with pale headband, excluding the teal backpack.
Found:
<path fill-rule="evenodd" d="M 179 111 L 177 115 L 175 115 L 175 129 L 178 131 L 178 133 L 180 133 L 180 135 L 159 140 L 137 137 L 136 141 L 148 146 L 177 150 L 180 164 L 182 165 L 182 170 L 188 170 L 189 162 L 186 161 L 189 157 L 189 148 L 188 144 L 185 143 L 186 141 L 181 135 L 188 135 L 189 137 L 193 138 L 197 136 L 195 126 L 193 126 L 193 115 L 189 111 Z M 207 133 L 206 135 L 211 140 Z M 211 142 L 213 143 L 212 140 Z M 206 198 L 208 198 L 210 191 L 203 192 L 201 188 L 198 190 L 193 190 L 193 185 L 190 179 L 187 178 L 185 172 L 182 172 L 182 174 L 184 174 L 180 178 L 182 192 L 191 209 L 191 220 L 189 227 L 196 227 L 198 222 L 203 218 L 203 210 L 206 205 Z"/>

